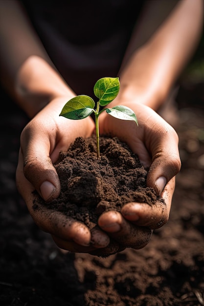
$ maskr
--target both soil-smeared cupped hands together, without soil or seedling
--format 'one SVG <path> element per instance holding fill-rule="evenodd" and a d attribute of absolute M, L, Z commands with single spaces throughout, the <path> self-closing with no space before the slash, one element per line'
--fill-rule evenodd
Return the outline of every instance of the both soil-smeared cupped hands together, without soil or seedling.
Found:
<path fill-rule="evenodd" d="M 140 105 L 134 109 L 139 128 L 136 128 L 134 122 L 120 121 L 118 125 L 118 119 L 105 113 L 102 117 L 101 114 L 102 132 L 116 135 L 126 141 L 139 155 L 145 167 L 151 165 L 147 181 L 149 186 L 157 188 L 159 192 L 165 182 L 168 182 L 161 194 L 166 205 L 162 207 L 158 203 L 151 207 L 144 203 L 128 203 L 122 208 L 121 213 L 111 211 L 101 215 L 98 220 L 99 227 L 90 231 L 85 224 L 59 212 L 52 212 L 45 206 L 38 210 L 33 209 L 34 190 L 37 190 L 47 202 L 60 194 L 59 177 L 52 164 L 56 161 L 59 151 L 66 151 L 77 136 L 88 137 L 94 131 L 94 123 L 90 117 L 80 121 L 59 117 L 62 101 L 64 105 L 64 98 L 52 101 L 28 123 L 21 135 L 16 181 L 31 216 L 42 230 L 52 235 L 60 248 L 72 252 L 105 256 L 126 247 L 144 247 L 151 238 L 152 229 L 162 226 L 169 217 L 175 186 L 172 177 L 180 167 L 176 132 L 154 111 L 149 108 L 143 109 Z M 164 135 L 167 137 L 166 141 Z M 169 141 L 172 141 L 171 150 L 166 147 Z M 168 155 L 171 157 L 169 164 Z M 173 165 L 175 167 L 172 170 Z M 154 183 L 156 178 L 160 180 L 158 185 Z"/>

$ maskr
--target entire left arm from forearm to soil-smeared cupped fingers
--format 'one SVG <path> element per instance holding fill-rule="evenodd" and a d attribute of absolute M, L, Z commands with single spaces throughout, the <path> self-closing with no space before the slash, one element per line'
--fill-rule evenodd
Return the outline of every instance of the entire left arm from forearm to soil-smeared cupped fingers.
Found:
<path fill-rule="evenodd" d="M 16 0 L 0 1 L 0 78 L 31 118 L 21 134 L 16 183 L 34 221 L 68 250 L 88 252 L 90 241 L 98 240 L 98 235 L 101 240 L 94 247 L 106 246 L 109 237 L 100 230 L 91 233 L 85 224 L 62 214 L 33 210 L 34 190 L 45 201 L 59 196 L 60 180 L 53 162 L 76 137 L 91 136 L 94 122 L 91 117 L 68 121 L 59 116 L 75 93 L 51 63 Z"/>

